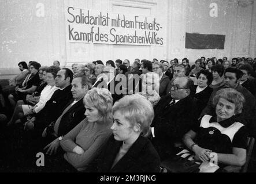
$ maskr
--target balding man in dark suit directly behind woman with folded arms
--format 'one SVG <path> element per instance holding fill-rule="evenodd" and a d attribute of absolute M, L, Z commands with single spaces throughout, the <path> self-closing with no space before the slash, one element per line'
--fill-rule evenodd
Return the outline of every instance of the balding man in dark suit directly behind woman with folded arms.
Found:
<path fill-rule="evenodd" d="M 47 154 L 55 154 L 60 147 L 60 140 L 66 133 L 76 127 L 86 116 L 86 108 L 84 108 L 83 98 L 87 91 L 91 89 L 91 81 L 87 76 L 76 76 L 72 81 L 73 98 L 66 105 L 66 108 L 58 117 L 57 121 L 52 122 L 44 129 L 43 137 L 46 139 L 44 143 L 49 143 L 44 149 L 47 149 Z"/>

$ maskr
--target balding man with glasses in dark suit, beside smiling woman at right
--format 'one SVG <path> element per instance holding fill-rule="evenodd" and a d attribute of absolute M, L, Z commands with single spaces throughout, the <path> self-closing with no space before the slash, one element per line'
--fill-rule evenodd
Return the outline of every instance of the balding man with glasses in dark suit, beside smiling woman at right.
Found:
<path fill-rule="evenodd" d="M 172 83 L 170 95 L 160 99 L 154 107 L 151 124 L 152 143 L 161 159 L 176 154 L 175 144 L 196 122 L 197 108 L 192 96 L 194 82 L 187 76 L 178 76 Z"/>

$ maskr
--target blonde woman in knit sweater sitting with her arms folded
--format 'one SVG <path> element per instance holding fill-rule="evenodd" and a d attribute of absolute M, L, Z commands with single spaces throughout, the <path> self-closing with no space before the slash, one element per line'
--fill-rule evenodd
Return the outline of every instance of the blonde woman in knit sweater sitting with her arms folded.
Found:
<path fill-rule="evenodd" d="M 66 134 L 61 147 L 65 160 L 78 171 L 85 170 L 111 135 L 113 98 L 109 90 L 93 88 L 84 99 L 86 118 Z"/>

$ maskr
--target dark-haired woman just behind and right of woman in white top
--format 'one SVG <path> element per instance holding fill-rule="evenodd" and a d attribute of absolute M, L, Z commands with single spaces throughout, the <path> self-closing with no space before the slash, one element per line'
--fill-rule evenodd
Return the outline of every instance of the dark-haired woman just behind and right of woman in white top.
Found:
<path fill-rule="evenodd" d="M 224 74 L 224 71 L 225 68 L 221 64 L 217 64 L 212 67 L 213 82 L 210 84 L 210 87 L 216 89 L 223 85 L 224 79 L 222 76 Z"/>

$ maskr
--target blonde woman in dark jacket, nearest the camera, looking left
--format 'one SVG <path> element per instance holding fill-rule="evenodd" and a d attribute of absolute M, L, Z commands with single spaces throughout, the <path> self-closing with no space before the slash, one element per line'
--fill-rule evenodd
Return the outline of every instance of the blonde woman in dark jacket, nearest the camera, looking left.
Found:
<path fill-rule="evenodd" d="M 113 108 L 114 124 L 98 159 L 100 173 L 158 173 L 160 158 L 147 139 L 153 106 L 142 95 L 127 95 Z"/>

